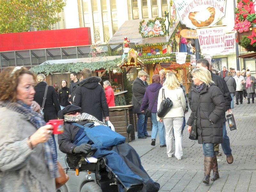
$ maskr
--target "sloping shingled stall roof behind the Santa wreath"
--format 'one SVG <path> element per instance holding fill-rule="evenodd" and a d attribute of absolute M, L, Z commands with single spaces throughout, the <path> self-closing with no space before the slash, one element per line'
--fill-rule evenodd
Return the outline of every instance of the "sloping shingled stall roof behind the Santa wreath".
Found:
<path fill-rule="evenodd" d="M 109 44 L 123 44 L 124 36 L 130 39 L 131 43 L 135 44 L 154 44 L 159 42 L 166 42 L 169 41 L 170 37 L 176 26 L 178 26 L 180 20 L 177 19 L 175 21 L 175 27 L 169 28 L 169 36 L 157 36 L 157 37 L 147 37 L 143 38 L 139 33 L 139 25 L 142 19 L 136 20 L 127 20 L 123 23 L 123 25 L 116 31 L 116 33 L 109 39 Z"/>

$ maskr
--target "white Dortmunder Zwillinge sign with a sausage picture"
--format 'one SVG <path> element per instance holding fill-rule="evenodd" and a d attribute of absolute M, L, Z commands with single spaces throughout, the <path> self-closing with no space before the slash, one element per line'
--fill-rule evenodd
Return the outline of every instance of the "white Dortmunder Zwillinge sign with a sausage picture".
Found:
<path fill-rule="evenodd" d="M 188 28 L 210 27 L 226 13 L 226 0 L 173 0 L 182 24 Z"/>

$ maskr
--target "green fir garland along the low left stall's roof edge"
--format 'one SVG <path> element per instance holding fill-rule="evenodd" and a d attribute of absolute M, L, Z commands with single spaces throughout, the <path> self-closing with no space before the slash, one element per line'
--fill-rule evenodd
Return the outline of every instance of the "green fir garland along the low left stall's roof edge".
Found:
<path fill-rule="evenodd" d="M 65 73 L 65 72 L 80 72 L 83 68 L 89 68 L 92 71 L 105 69 L 107 72 L 112 71 L 113 69 L 117 70 L 117 73 L 122 73 L 121 68 L 117 67 L 117 64 L 121 63 L 121 58 L 116 58 L 114 60 L 107 60 L 104 62 L 92 62 L 92 63 L 65 63 L 65 64 L 41 64 L 36 65 L 31 68 L 35 74 L 44 73 L 47 76 L 53 74 L 53 72 Z"/>

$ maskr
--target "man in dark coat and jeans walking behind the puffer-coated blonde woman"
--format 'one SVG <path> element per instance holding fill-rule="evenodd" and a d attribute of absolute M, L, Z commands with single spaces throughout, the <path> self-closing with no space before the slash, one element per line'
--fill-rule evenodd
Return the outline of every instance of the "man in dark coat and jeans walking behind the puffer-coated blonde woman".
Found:
<path fill-rule="evenodd" d="M 201 67 L 204 67 L 204 68 L 211 71 L 212 66 L 210 65 L 208 60 L 199 59 L 196 62 L 196 68 L 201 68 Z M 231 105 L 232 97 L 230 95 L 230 92 L 228 90 L 228 86 L 227 86 L 225 80 L 223 78 L 221 78 L 220 76 L 216 76 L 216 75 L 212 74 L 212 81 L 214 81 L 216 86 L 220 88 L 220 91 L 222 92 L 222 94 L 224 96 L 224 100 L 225 100 L 225 110 L 227 112 L 230 112 L 231 111 L 231 106 L 230 105 Z M 222 118 L 222 122 L 223 122 L 222 123 L 222 125 L 223 125 L 223 142 L 221 143 L 221 147 L 223 149 L 224 154 L 227 156 L 228 164 L 232 164 L 233 163 L 233 156 L 232 156 L 232 153 L 231 153 L 232 150 L 230 148 L 229 137 L 227 135 L 226 121 L 227 121 L 226 117 L 225 117 L 225 115 L 223 115 L 223 118 Z M 214 151 L 216 151 L 216 148 L 214 149 Z M 216 154 L 216 152 L 215 152 L 215 154 Z M 217 151 L 217 155 L 218 154 L 219 154 L 219 151 Z"/>

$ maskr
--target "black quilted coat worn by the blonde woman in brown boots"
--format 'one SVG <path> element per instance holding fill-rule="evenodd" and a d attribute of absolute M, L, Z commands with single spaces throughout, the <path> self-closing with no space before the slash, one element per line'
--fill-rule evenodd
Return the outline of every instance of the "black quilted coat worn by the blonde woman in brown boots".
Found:
<path fill-rule="evenodd" d="M 220 89 L 211 84 L 210 87 L 204 84 L 203 90 L 199 93 L 196 85 L 192 86 L 188 97 L 191 114 L 187 125 L 191 126 L 194 113 L 197 110 L 197 134 L 198 143 L 222 143 L 222 117 L 225 116 L 225 100 Z M 212 123 L 211 123 L 211 121 Z"/>

